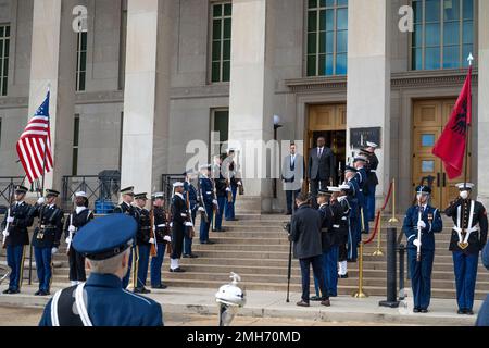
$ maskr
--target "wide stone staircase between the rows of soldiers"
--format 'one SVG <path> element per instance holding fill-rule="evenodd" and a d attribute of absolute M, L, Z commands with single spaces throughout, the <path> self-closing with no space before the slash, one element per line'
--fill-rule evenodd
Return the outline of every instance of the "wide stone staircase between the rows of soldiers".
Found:
<path fill-rule="evenodd" d="M 229 282 L 229 273 L 236 272 L 242 278 L 242 286 L 249 290 L 287 291 L 287 265 L 289 243 L 283 224 L 289 216 L 241 214 L 237 222 L 226 222 L 225 233 L 211 233 L 215 245 L 200 245 L 195 239 L 193 252 L 198 259 L 183 259 L 186 273 L 170 273 L 170 260 L 165 256 L 163 281 L 171 287 L 205 287 L 217 289 Z M 198 219 L 199 222 L 199 219 Z M 448 245 L 451 224 L 437 237 L 437 250 L 432 273 L 432 297 L 455 298 L 453 263 Z M 199 226 L 196 226 L 198 231 Z M 398 233 L 400 232 L 400 225 Z M 366 236 L 364 236 L 366 239 Z M 381 247 L 386 253 L 386 229 L 381 233 Z M 404 239 L 405 240 L 405 239 Z M 67 258 L 64 245 L 54 256 L 53 286 L 68 284 Z M 371 296 L 386 296 L 386 257 L 374 257 L 376 240 L 364 248 L 364 291 Z M 28 249 L 26 249 L 28 257 Z M 4 250 L 0 262 L 4 263 Z M 33 262 L 33 266 L 35 263 Z M 358 289 L 358 263 L 349 263 L 349 278 L 339 279 L 339 295 L 351 295 Z M 27 277 L 28 261 L 24 277 Z M 35 278 L 35 270 L 33 277 Z M 408 273 L 408 271 L 406 271 Z M 408 274 L 406 274 L 408 276 Z M 149 277 L 148 277 L 149 281 Z M 298 260 L 292 262 L 291 291 L 301 290 L 301 275 Z M 399 284 L 398 284 L 399 286 Z M 410 287 L 406 279 L 405 286 Z M 489 293 L 489 272 L 480 264 L 476 285 L 476 298 L 484 299 Z"/>

